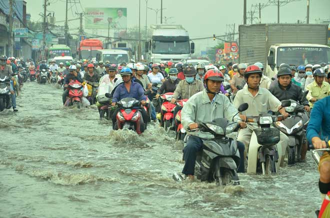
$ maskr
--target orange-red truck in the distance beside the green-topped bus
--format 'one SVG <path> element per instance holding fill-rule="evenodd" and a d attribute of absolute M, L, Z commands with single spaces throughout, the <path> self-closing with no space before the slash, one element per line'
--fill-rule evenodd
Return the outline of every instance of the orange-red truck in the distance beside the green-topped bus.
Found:
<path fill-rule="evenodd" d="M 103 49 L 103 44 L 98 39 L 84 39 L 80 41 L 78 50 L 79 59 L 88 59 L 96 57 L 96 51 Z"/>

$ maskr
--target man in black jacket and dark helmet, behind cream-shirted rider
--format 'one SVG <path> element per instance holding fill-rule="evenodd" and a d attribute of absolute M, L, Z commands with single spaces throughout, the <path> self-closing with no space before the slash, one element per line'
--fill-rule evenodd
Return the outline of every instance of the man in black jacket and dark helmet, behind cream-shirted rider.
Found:
<path fill-rule="evenodd" d="M 290 99 L 297 101 L 301 105 L 304 105 L 304 109 L 307 112 L 309 112 L 310 108 L 307 99 L 304 99 L 301 102 L 301 98 L 303 96 L 302 89 L 291 81 L 291 77 L 292 77 L 291 72 L 292 71 L 290 71 L 289 68 L 286 67 L 280 68 L 277 73 L 278 84 L 276 86 L 272 86 L 269 89 L 269 92 L 280 101 L 290 100 Z M 307 152 L 307 143 L 305 140 L 303 140 L 301 145 L 302 161 L 306 157 L 306 152 Z"/>

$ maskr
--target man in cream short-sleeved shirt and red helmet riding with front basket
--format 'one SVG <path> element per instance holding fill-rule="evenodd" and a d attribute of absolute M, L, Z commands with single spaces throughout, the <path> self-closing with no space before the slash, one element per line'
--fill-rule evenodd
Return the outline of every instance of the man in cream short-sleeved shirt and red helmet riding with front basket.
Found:
<path fill-rule="evenodd" d="M 261 69 L 256 65 L 250 65 L 246 68 L 244 79 L 247 86 L 239 90 L 233 101 L 233 105 L 238 108 L 240 104 L 247 103 L 248 109 L 241 112 L 242 120 L 246 120 L 246 116 L 259 116 L 259 114 L 268 113 L 269 110 L 279 112 L 284 118 L 289 116 L 285 112 L 285 108 L 281 106 L 281 102 L 273 96 L 267 89 L 260 88 L 260 79 L 262 77 Z M 254 129 L 258 128 L 257 124 L 247 124 L 246 129 L 241 129 L 238 132 L 237 141 L 244 143 L 245 151 L 248 151 L 250 138 Z M 282 166 L 282 161 L 287 147 L 287 136 L 280 132 L 281 147 L 278 146 L 279 163 Z M 281 157 L 282 155 L 282 157 Z"/>

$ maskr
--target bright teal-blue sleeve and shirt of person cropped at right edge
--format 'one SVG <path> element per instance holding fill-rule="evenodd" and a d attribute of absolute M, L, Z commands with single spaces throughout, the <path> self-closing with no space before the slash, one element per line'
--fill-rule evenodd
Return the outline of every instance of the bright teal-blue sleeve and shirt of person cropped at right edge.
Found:
<path fill-rule="evenodd" d="M 319 137 L 330 140 L 330 96 L 318 100 L 310 113 L 309 123 L 307 126 L 307 139 L 311 144 L 313 137 Z"/>

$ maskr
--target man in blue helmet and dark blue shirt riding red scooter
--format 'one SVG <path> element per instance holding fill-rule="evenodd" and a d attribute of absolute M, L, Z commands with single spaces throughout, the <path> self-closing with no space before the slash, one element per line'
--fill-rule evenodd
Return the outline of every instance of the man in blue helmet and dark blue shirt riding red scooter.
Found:
<path fill-rule="evenodd" d="M 115 106 L 118 101 L 123 98 L 135 98 L 137 101 L 141 101 L 142 105 L 145 105 L 146 96 L 144 95 L 143 87 L 136 82 L 132 81 L 132 71 L 128 67 L 122 68 L 120 71 L 121 78 L 123 80 L 120 83 L 113 95 L 112 95 L 112 106 Z M 112 129 L 115 129 L 116 116 L 119 111 L 119 108 L 116 109 L 112 114 Z M 148 121 L 148 115 L 143 108 L 139 108 L 139 112 L 142 115 L 143 123 L 146 124 Z M 142 122 L 141 122 L 142 123 Z M 141 132 L 144 131 L 144 125 L 140 125 Z"/>

